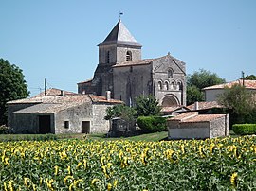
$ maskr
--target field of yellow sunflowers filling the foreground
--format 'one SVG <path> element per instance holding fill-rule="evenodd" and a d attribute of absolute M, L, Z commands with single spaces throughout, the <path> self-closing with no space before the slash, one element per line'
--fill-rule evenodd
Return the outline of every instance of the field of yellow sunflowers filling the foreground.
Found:
<path fill-rule="evenodd" d="M 1 142 L 0 190 L 256 190 L 256 136 Z"/>

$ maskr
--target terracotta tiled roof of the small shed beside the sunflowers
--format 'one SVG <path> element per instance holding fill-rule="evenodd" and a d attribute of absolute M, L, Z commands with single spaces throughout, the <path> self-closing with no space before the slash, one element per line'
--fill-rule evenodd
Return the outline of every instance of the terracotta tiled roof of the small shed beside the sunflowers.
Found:
<path fill-rule="evenodd" d="M 225 116 L 225 114 L 198 114 L 197 112 L 190 112 L 190 113 L 179 114 L 168 120 L 179 121 L 181 123 L 210 122 L 214 119 L 217 119 L 223 116 Z"/>

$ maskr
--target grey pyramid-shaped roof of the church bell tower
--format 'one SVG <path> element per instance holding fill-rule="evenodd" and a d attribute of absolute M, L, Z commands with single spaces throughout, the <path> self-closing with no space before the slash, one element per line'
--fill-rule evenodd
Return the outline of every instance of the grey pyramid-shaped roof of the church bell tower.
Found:
<path fill-rule="evenodd" d="M 126 26 L 123 25 L 120 19 L 118 24 L 111 30 L 106 39 L 100 43 L 99 46 L 109 44 L 122 44 L 138 47 L 142 46 L 140 43 L 137 43 L 136 39 L 129 32 Z"/>

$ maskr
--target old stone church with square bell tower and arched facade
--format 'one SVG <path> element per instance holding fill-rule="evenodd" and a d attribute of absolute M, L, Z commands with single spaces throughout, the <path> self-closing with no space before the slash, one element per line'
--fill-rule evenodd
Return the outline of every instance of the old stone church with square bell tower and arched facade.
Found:
<path fill-rule="evenodd" d="M 104 96 L 107 91 L 126 105 L 140 95 L 153 95 L 163 107 L 186 105 L 186 66 L 168 53 L 141 59 L 140 43 L 121 20 L 99 45 L 94 77 L 78 83 L 78 92 Z"/>

